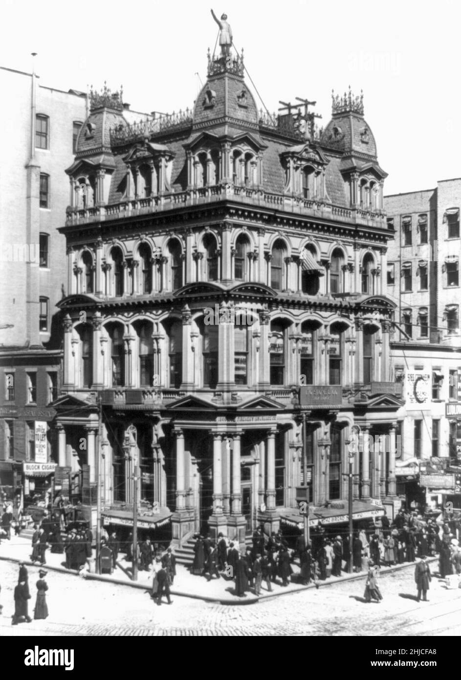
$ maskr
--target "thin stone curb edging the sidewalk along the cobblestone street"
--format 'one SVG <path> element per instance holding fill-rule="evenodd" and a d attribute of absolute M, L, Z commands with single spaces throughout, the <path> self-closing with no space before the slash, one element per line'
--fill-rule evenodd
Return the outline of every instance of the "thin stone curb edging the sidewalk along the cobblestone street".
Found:
<path fill-rule="evenodd" d="M 0 556 L 0 560 L 3 560 L 5 562 L 24 562 L 24 564 L 27 564 L 27 566 L 37 566 L 35 563 L 31 562 L 31 560 L 17 560 L 16 558 L 10 558 L 10 557 L 5 557 L 5 556 Z M 432 562 L 437 562 L 439 560 L 438 557 L 432 557 L 428 559 L 428 562 L 432 564 Z M 416 562 L 404 562 L 404 564 L 396 564 L 394 566 L 385 566 L 382 568 L 380 573 L 383 574 L 390 574 L 393 573 L 394 571 L 402 571 L 403 569 L 407 569 L 408 567 L 413 567 L 415 566 Z M 63 566 L 52 566 L 46 564 L 46 570 L 47 571 L 57 571 L 61 572 L 63 574 L 72 574 L 75 576 L 80 576 L 80 573 L 78 571 L 75 571 L 75 569 L 67 569 L 64 568 Z M 345 583 L 347 581 L 358 581 L 358 579 L 364 579 L 366 577 L 366 572 L 362 571 L 359 573 L 355 574 L 347 574 L 344 575 L 341 578 L 335 578 L 335 581 L 318 581 L 319 588 L 331 588 L 332 585 L 336 585 L 337 583 Z M 92 581 L 101 581 L 102 583 L 115 583 L 116 585 L 126 585 L 129 588 L 137 588 L 138 590 L 147 590 L 150 591 L 150 585 L 148 583 L 137 583 L 137 581 L 122 581 L 121 579 L 113 579 L 109 576 L 105 576 L 103 574 L 92 574 L 92 573 L 86 573 L 86 576 L 84 577 L 85 579 L 92 580 Z M 294 585 L 294 584 L 293 584 Z M 261 594 L 259 597 L 253 594 L 248 594 L 245 596 L 245 600 L 231 600 L 228 598 L 220 598 L 220 597 L 209 597 L 206 595 L 196 595 L 194 593 L 189 593 L 189 592 L 182 592 L 181 590 L 173 590 L 170 589 L 170 593 L 173 596 L 177 597 L 187 597 L 192 600 L 203 600 L 203 602 L 218 602 L 220 605 L 226 605 L 228 607 L 245 607 L 247 605 L 255 605 L 257 602 L 260 602 L 262 600 L 273 600 L 274 598 L 281 597 L 281 596 L 286 596 L 286 595 L 294 595 L 298 592 L 301 592 L 303 590 L 312 590 L 315 588 L 315 583 L 309 583 L 309 585 L 298 585 L 296 583 L 296 588 L 293 590 L 284 590 L 279 593 L 267 593 L 267 594 Z"/>

